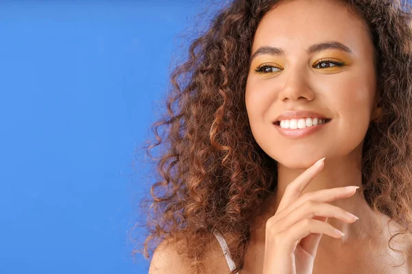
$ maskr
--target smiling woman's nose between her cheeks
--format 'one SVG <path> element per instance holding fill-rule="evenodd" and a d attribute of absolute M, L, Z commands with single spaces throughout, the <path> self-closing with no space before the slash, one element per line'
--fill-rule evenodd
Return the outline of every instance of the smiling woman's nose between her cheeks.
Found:
<path fill-rule="evenodd" d="M 300 98 L 312 101 L 314 92 L 310 89 L 307 75 L 303 71 L 290 69 L 284 88 L 279 92 L 278 99 L 280 101 L 286 101 L 287 99 L 297 101 Z"/>

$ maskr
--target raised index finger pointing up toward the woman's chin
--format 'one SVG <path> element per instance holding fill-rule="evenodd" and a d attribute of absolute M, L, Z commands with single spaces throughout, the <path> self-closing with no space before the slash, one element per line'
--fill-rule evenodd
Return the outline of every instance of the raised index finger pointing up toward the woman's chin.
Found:
<path fill-rule="evenodd" d="M 306 171 L 304 171 L 303 173 L 301 173 L 301 175 L 294 179 L 293 182 L 286 186 L 282 201 L 280 201 L 276 212 L 284 210 L 284 208 L 289 206 L 290 203 L 293 203 L 293 201 L 300 197 L 301 192 L 306 188 L 306 186 L 308 186 L 314 176 L 323 169 L 324 161 L 325 158 L 318 160 L 317 162 L 312 164 L 310 168 L 306 169 Z"/>

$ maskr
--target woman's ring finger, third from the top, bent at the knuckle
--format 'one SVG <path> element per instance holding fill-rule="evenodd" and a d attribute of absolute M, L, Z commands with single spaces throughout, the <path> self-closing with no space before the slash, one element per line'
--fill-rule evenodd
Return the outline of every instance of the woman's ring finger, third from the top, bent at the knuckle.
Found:
<path fill-rule="evenodd" d="M 318 201 L 306 201 L 306 203 L 298 206 L 288 214 L 287 217 L 281 221 L 277 221 L 273 225 L 273 234 L 279 234 L 284 232 L 295 223 L 299 223 L 303 219 L 312 219 L 314 216 L 328 217 L 339 219 L 345 223 L 354 223 L 357 219 L 356 216 L 339 208 L 332 206 L 329 203 L 320 203 Z"/>

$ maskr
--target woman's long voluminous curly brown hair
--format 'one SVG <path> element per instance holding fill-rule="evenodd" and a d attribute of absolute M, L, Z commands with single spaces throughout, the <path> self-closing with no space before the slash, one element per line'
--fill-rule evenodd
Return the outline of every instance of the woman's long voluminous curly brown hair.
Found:
<path fill-rule="evenodd" d="M 412 9 L 400 0 L 338 1 L 364 19 L 376 50 L 382 114 L 365 136 L 362 179 L 369 206 L 401 227 L 392 240 L 412 230 Z M 242 269 L 253 221 L 277 186 L 277 162 L 252 136 L 244 91 L 253 36 L 279 2 L 231 1 L 172 72 L 168 114 L 152 125 L 157 141 L 146 147 L 150 155 L 167 145 L 156 159 L 162 179 L 150 190 L 146 259 L 161 240 L 183 240 L 183 258 L 203 273 L 205 247 L 219 232 L 231 239 L 231 273 Z"/>

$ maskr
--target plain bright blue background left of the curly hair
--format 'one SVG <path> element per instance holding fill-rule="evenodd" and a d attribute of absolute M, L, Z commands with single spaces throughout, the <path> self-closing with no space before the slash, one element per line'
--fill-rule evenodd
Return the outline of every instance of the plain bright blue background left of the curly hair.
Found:
<path fill-rule="evenodd" d="M 137 148 L 208 3 L 1 1 L 0 273 L 148 273 Z"/>

